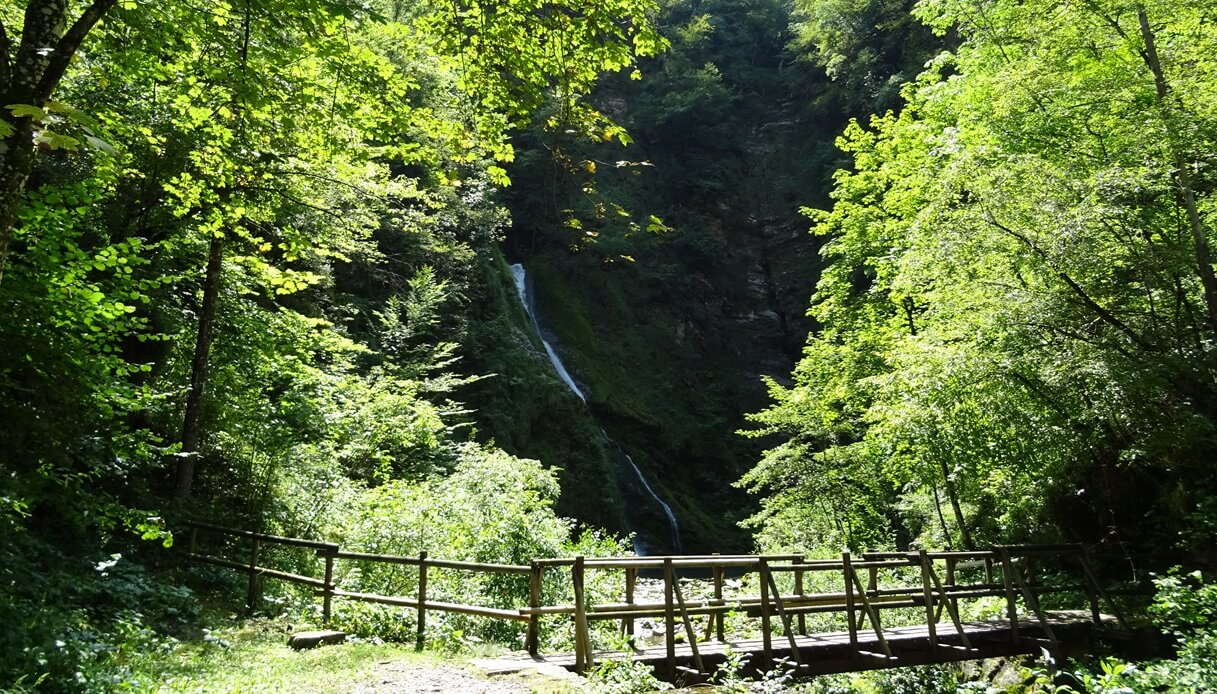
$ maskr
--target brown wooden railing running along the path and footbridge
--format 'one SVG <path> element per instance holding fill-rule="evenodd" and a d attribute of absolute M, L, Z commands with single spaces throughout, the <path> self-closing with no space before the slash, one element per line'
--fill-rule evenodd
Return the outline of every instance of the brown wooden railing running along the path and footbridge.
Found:
<path fill-rule="evenodd" d="M 198 552 L 200 532 L 219 535 L 229 542 L 248 541 L 248 554 L 241 559 L 217 556 Z M 320 576 L 303 576 L 270 569 L 259 564 L 262 549 L 268 544 L 313 550 L 323 560 Z M 891 633 L 882 626 L 882 614 L 904 609 L 924 611 L 924 628 L 929 647 L 935 649 L 961 649 L 963 656 L 982 657 L 969 634 L 969 625 L 960 616 L 959 603 L 977 598 L 999 598 L 1005 604 L 1008 638 L 1014 644 L 1023 639 L 1027 621 L 1020 619 L 1019 603 L 1034 617 L 1038 625 L 1036 642 L 1055 650 L 1060 644 L 1053 621 L 1042 606 L 1041 599 L 1051 594 L 1075 593 L 1088 603 L 1089 619 L 1094 623 L 1103 620 L 1100 601 L 1111 606 L 1115 620 L 1127 629 L 1118 608 L 1107 598 L 1095 580 L 1082 545 L 999 545 L 976 552 L 865 552 L 853 555 L 842 553 L 840 559 L 809 559 L 798 554 L 769 555 L 690 555 L 690 556 L 613 556 L 613 558 L 557 558 L 535 559 L 529 565 L 486 564 L 432 559 L 426 552 L 417 556 L 398 556 L 342 552 L 337 544 L 279 537 L 218 525 L 190 524 L 187 558 L 194 561 L 224 566 L 248 573 L 247 606 L 253 610 L 259 597 L 259 582 L 264 577 L 310 586 L 323 600 L 323 616 L 332 617 L 335 598 L 360 600 L 413 608 L 416 611 L 415 647 L 421 649 L 426 633 L 428 611 L 455 612 L 527 623 L 526 647 L 532 656 L 538 656 L 539 620 L 546 616 L 567 616 L 574 622 L 573 667 L 584 671 L 594 665 L 595 651 L 590 623 L 595 621 L 619 621 L 621 633 L 633 636 L 635 622 L 641 619 L 662 621 L 664 634 L 663 660 L 668 675 L 678 671 L 705 676 L 708 673 L 700 644 L 725 643 L 724 620 L 728 614 L 741 614 L 761 621 L 758 654 L 763 664 L 773 664 L 775 637 L 789 647 L 786 656 L 795 667 L 803 665 L 801 653 L 808 637 L 807 616 L 839 614 L 845 617 L 848 645 L 856 657 L 873 659 L 882 664 L 894 664 Z M 374 563 L 415 567 L 417 580 L 413 595 L 378 595 L 340 589 L 335 580 L 336 563 Z M 1055 564 L 1054 564 L 1055 563 Z M 1044 582 L 1042 567 L 1051 567 L 1060 575 L 1067 565 L 1075 569 L 1073 581 Z M 427 594 L 428 571 L 490 573 L 528 577 L 528 605 L 514 609 L 465 605 L 434 600 Z M 546 571 L 570 571 L 571 604 L 543 605 L 542 587 Z M 682 587 L 679 571 L 710 570 L 712 593 L 700 599 L 689 599 Z M 593 603 L 587 593 L 590 572 L 622 572 L 624 577 L 623 599 L 611 603 Z M 662 580 L 662 600 L 639 601 L 638 580 L 641 572 L 658 575 Z M 727 597 L 728 573 L 755 575 L 757 594 Z M 817 573 L 836 575 L 839 588 L 806 592 L 807 580 Z M 779 577 L 786 576 L 779 582 Z M 705 616 L 702 628 L 695 619 Z M 946 622 L 943 622 L 946 617 Z M 780 626 L 780 629 L 778 628 Z M 684 645 L 691 668 L 678 661 L 678 633 L 684 634 Z M 865 642 L 865 643 L 863 643 Z M 948 643 L 949 642 L 949 643 Z M 867 645 L 869 644 L 869 645 Z M 864 648 L 865 647 L 865 648 Z M 876 649 L 874 651 L 865 649 Z M 959 655 L 959 654 L 957 654 Z M 958 657 L 957 657 L 958 659 Z"/>

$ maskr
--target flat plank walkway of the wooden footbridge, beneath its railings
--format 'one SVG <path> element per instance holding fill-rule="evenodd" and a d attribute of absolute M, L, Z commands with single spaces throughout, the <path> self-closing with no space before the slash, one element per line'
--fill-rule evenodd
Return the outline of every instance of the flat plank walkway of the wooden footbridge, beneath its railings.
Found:
<path fill-rule="evenodd" d="M 1058 615 L 1048 619 L 1053 634 L 1065 653 L 1081 653 L 1090 638 L 1094 623 L 1088 615 Z M 1014 643 L 1009 621 L 970 621 L 964 628 L 972 648 L 965 648 L 963 640 L 949 625 L 938 625 L 937 648 L 930 648 L 930 629 L 921 626 L 891 627 L 884 629 L 884 637 L 892 651 L 892 657 L 881 653 L 879 639 L 874 632 L 859 632 L 858 647 L 853 648 L 847 632 L 817 633 L 798 636 L 800 675 L 830 675 L 836 672 L 854 672 L 860 670 L 880 670 L 904 667 L 909 665 L 929 665 L 935 662 L 957 662 L 983 657 L 999 657 L 1020 654 L 1038 654 L 1047 645 L 1047 634 L 1038 620 L 1019 621 L 1020 639 Z M 753 671 L 767 671 L 772 666 L 762 662 L 763 644 L 761 639 L 728 639 L 725 643 L 711 640 L 700 642 L 703 675 L 694 675 L 692 649 L 688 644 L 677 647 L 675 662 L 668 664 L 663 645 L 636 649 L 633 654 L 621 651 L 596 651 L 595 660 L 623 660 L 652 665 L 660 677 L 679 678 L 685 683 L 705 679 L 725 660 L 727 651 L 748 654 L 748 664 Z M 790 642 L 786 637 L 774 638 L 772 644 L 774 660 L 791 660 Z M 476 660 L 473 664 L 489 675 L 507 675 L 520 672 L 538 665 L 556 665 L 567 670 L 576 668 L 573 653 L 529 656 L 527 653 L 511 654 L 495 659 Z"/>

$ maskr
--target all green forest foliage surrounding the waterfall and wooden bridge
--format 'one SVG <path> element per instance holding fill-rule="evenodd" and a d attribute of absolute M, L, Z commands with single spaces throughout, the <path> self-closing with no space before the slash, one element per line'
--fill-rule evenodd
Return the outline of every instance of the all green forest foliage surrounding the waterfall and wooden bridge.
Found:
<path fill-rule="evenodd" d="M 701 537 L 746 539 L 744 474 L 767 549 L 1211 567 L 1215 27 L 1201 0 L 5 2 L 0 687 L 107 690 L 151 627 L 189 633 L 189 517 L 619 552 L 555 511 L 622 526 L 589 413 Z M 590 409 L 505 237 L 549 261 Z M 730 441 L 757 373 L 773 404 Z M 1185 664 L 1213 648 L 1194 580 L 1155 608 Z"/>

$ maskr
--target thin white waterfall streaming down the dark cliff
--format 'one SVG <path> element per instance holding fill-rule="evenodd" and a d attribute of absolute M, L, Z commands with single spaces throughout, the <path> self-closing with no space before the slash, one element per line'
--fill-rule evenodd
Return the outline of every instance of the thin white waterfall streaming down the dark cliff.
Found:
<path fill-rule="evenodd" d="M 525 313 L 528 314 L 528 320 L 532 323 L 533 332 L 535 332 L 537 337 L 540 338 L 540 343 L 545 348 L 545 354 L 549 356 L 549 363 L 554 365 L 554 371 L 557 373 L 557 377 L 562 379 L 562 382 L 566 384 L 566 387 L 570 388 L 572 393 L 587 403 L 588 397 L 583 393 L 579 385 L 574 382 L 574 379 L 571 377 L 571 373 L 566 370 L 566 365 L 562 364 L 561 357 L 557 356 L 554 346 L 545 338 L 545 334 L 540 329 L 532 295 L 528 291 L 528 274 L 525 270 L 525 267 L 520 263 L 511 265 L 511 276 L 516 281 L 516 293 L 520 296 L 520 303 L 523 304 Z M 650 482 L 646 481 L 646 476 L 643 475 L 643 471 L 638 468 L 638 464 L 634 463 L 634 459 L 629 455 L 629 453 L 626 453 L 626 450 L 617 444 L 611 436 L 608 436 L 607 431 L 601 429 L 600 433 L 605 437 L 605 443 L 608 446 L 608 449 L 612 450 L 615 458 L 618 459 L 618 466 L 628 468 L 628 475 L 626 474 L 627 470 L 616 470 L 616 477 L 618 491 L 621 492 L 622 500 L 624 502 L 623 511 L 626 514 L 626 522 L 629 526 L 630 532 L 634 533 L 634 553 L 643 556 L 650 554 L 650 549 L 652 547 L 651 543 L 643 538 L 644 532 L 638 522 L 640 516 L 643 516 L 646 510 L 638 508 L 638 503 L 641 503 L 651 505 L 652 509 L 650 510 L 652 511 L 656 510 L 656 508 L 662 511 L 663 516 L 668 521 L 668 531 L 671 533 L 668 538 L 668 550 L 673 554 L 680 554 L 683 552 L 680 545 L 680 524 L 677 521 L 677 515 L 672 511 L 672 506 L 669 506 L 667 502 L 655 493 L 655 489 L 651 487 Z M 622 465 L 622 461 L 624 465 Z M 627 480 L 622 480 L 622 477 L 627 477 Z M 630 483 L 635 481 L 636 483 Z M 643 493 L 639 494 L 638 491 L 641 491 Z"/>

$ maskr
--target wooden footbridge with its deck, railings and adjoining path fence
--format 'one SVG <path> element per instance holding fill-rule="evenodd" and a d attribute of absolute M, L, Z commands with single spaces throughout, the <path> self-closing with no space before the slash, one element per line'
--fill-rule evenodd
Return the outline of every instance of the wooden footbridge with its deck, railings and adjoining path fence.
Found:
<path fill-rule="evenodd" d="M 211 536 L 217 553 L 200 550 L 200 533 Z M 320 576 L 259 564 L 268 547 L 315 553 Z M 218 555 L 235 552 L 240 559 Z M 426 553 L 342 552 L 336 544 L 196 522 L 191 525 L 187 558 L 247 573 L 251 609 L 258 601 L 262 580 L 268 577 L 313 587 L 326 622 L 335 598 L 413 609 L 420 649 L 428 611 L 527 625 L 527 653 L 479 664 L 490 672 L 518 671 L 539 662 L 583 672 L 599 660 L 630 657 L 655 666 L 656 673 L 669 681 L 694 683 L 707 679 L 733 653 L 747 654 L 753 671 L 783 667 L 798 675 L 820 675 L 1038 654 L 1041 649 L 1081 654 L 1100 633 L 1128 632 L 1123 616 L 1095 580 L 1086 550 L 1073 544 L 842 553 L 840 559 L 798 554 L 577 556 L 537 559 L 525 566 L 439 560 Z M 340 561 L 408 567 L 413 594 L 343 591 L 335 581 Z M 512 608 L 434 600 L 427 583 L 428 573 L 437 571 L 527 580 L 527 604 L 522 599 Z M 691 573 L 703 578 L 691 580 Z M 601 587 L 596 599 L 589 595 L 589 577 Z M 619 586 L 616 598 L 605 598 L 606 577 Z M 568 600 L 543 604 L 543 586 L 555 578 L 570 588 L 565 592 Z M 960 604 L 974 600 L 988 600 L 1002 616 L 965 620 Z M 1055 608 L 1083 609 L 1050 610 L 1045 600 Z M 1100 612 L 1104 601 L 1114 616 Z M 543 619 L 573 625 L 573 653 L 539 651 Z M 606 631 L 602 625 L 594 626 L 598 622 L 617 625 L 613 631 L 629 638 L 632 650 L 596 649 L 593 636 Z M 752 636 L 733 637 L 728 622 L 742 625 Z M 654 625 L 650 631 L 658 634 L 658 643 L 643 638 L 639 626 L 646 623 Z"/>

